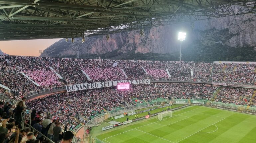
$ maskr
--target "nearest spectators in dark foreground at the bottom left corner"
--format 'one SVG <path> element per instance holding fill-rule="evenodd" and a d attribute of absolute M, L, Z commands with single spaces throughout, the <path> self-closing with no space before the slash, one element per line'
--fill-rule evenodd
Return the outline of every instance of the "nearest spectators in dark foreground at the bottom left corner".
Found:
<path fill-rule="evenodd" d="M 44 115 L 41 111 L 31 114 L 31 125 L 35 129 L 26 127 L 26 124 L 25 128 L 21 129 L 21 117 L 24 116 L 23 111 L 26 110 L 25 100 L 26 98 L 22 98 L 17 104 L 11 104 L 1 99 L 0 143 L 50 143 L 50 140 L 55 143 L 71 143 L 74 134 L 67 130 L 63 133 L 59 127 L 61 122 L 58 119 L 52 122 L 49 115 L 43 119 Z M 50 140 L 42 134 L 47 135 Z"/>

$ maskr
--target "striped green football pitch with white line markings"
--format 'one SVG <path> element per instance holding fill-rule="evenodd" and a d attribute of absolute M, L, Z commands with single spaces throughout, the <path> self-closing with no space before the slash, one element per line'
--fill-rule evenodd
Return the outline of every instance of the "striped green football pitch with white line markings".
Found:
<path fill-rule="evenodd" d="M 97 138 L 105 143 L 255 143 L 256 116 L 202 106 L 173 111 L 133 125 L 116 127 Z"/>

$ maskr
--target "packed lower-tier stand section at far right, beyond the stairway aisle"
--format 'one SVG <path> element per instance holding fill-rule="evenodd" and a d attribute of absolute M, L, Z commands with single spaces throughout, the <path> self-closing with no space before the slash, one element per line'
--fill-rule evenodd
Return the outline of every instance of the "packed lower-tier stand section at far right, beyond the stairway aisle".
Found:
<path fill-rule="evenodd" d="M 221 87 L 215 101 L 236 105 L 249 105 L 255 91 L 255 89 L 248 88 Z"/>

